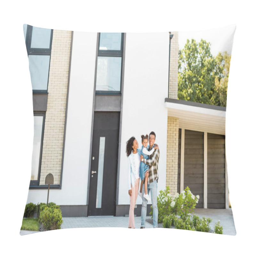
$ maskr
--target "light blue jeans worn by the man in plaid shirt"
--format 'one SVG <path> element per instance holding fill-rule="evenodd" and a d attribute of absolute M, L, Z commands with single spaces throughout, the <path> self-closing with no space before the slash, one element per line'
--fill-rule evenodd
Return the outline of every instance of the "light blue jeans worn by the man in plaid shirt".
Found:
<path fill-rule="evenodd" d="M 158 208 L 157 208 L 157 181 L 148 184 L 148 195 L 151 194 L 152 208 L 153 208 L 153 228 L 157 228 Z M 141 227 L 145 228 L 147 215 L 147 199 L 143 197 L 145 193 L 144 184 L 142 186 L 142 204 L 141 204 Z"/>

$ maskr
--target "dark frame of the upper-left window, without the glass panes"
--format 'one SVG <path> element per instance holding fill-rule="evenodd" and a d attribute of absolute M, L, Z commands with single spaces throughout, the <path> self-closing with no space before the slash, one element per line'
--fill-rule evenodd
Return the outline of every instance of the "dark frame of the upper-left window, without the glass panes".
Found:
<path fill-rule="evenodd" d="M 51 29 L 50 47 L 49 48 L 31 48 L 32 31 L 33 31 L 33 26 L 27 25 L 27 32 L 26 32 L 25 42 L 26 42 L 26 48 L 27 48 L 28 55 L 48 55 L 48 56 L 50 56 L 49 69 L 48 69 L 48 78 L 47 78 L 47 89 L 46 90 L 33 90 L 33 87 L 32 87 L 32 92 L 33 93 L 48 93 L 53 29 Z"/>

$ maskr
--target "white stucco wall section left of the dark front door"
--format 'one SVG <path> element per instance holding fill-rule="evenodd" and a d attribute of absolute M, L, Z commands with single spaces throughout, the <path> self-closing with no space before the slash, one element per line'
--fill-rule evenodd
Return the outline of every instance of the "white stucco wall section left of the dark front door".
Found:
<path fill-rule="evenodd" d="M 74 32 L 61 189 L 51 189 L 49 202 L 87 203 L 90 138 L 97 33 Z M 46 189 L 29 190 L 27 202 L 46 202 Z"/>

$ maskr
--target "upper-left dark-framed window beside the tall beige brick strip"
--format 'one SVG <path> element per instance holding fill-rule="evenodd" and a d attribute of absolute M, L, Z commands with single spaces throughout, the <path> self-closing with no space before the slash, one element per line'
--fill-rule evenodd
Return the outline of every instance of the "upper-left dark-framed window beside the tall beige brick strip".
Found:
<path fill-rule="evenodd" d="M 52 29 L 23 26 L 33 92 L 47 92 Z"/>

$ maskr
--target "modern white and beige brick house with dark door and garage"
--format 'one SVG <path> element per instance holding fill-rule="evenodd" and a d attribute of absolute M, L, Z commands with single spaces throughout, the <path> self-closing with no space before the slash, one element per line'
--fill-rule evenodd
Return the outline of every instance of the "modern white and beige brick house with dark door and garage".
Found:
<path fill-rule="evenodd" d="M 28 203 L 46 202 L 51 173 L 49 202 L 63 217 L 128 215 L 126 141 L 141 146 L 154 131 L 158 191 L 189 186 L 197 207 L 228 208 L 226 109 L 177 100 L 178 33 L 24 25 L 24 36 L 34 109 Z"/>

